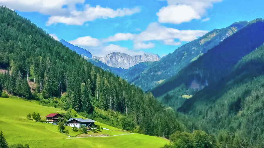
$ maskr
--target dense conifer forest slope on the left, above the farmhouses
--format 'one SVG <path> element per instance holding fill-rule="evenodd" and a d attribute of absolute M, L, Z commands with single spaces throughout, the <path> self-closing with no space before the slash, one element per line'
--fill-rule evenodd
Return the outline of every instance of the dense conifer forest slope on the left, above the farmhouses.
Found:
<path fill-rule="evenodd" d="M 126 115 L 128 128 L 168 137 L 181 130 L 176 115 L 164 110 L 152 94 L 145 94 L 113 73 L 87 62 L 76 52 L 63 46 L 29 20 L 1 6 L 0 74 L 1 90 L 26 99 L 47 98 L 58 101 L 66 92 L 64 109 L 89 113 L 97 106 L 102 110 Z M 33 94 L 28 81 L 36 88 Z M 158 120 L 161 119 L 162 120 Z M 151 123 L 151 124 L 150 124 Z M 181 124 L 182 126 L 182 124 Z"/>

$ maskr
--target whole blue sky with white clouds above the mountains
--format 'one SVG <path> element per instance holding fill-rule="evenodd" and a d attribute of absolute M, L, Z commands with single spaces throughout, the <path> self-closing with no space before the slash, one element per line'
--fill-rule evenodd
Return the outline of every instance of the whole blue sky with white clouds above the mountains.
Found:
<path fill-rule="evenodd" d="M 87 49 L 164 56 L 207 32 L 263 18 L 262 0 L 0 0 L 54 39 Z"/>

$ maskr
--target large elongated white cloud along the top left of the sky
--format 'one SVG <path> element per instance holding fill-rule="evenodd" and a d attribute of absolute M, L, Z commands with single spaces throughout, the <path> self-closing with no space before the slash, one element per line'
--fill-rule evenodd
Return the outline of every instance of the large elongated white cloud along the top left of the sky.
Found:
<path fill-rule="evenodd" d="M 141 11 L 140 7 L 116 10 L 99 5 L 91 7 L 89 4 L 84 5 L 84 0 L 0 0 L 0 4 L 13 10 L 49 15 L 46 25 L 56 23 L 83 25 L 97 18 L 123 17 Z M 83 4 L 83 11 L 77 11 L 76 4 Z"/>

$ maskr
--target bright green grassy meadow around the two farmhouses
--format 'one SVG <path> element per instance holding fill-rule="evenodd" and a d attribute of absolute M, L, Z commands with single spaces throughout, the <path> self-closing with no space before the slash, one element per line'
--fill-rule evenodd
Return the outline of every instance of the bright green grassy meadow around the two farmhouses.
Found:
<path fill-rule="evenodd" d="M 37 101 L 24 101 L 17 97 L 0 98 L 0 130 L 4 132 L 9 144 L 27 143 L 30 147 L 162 147 L 169 143 L 160 137 L 142 134 L 121 135 L 128 132 L 99 122 L 95 124 L 109 130 L 101 130 L 98 134 L 118 136 L 65 139 L 69 137 L 60 133 L 57 125 L 27 119 L 26 115 L 33 111 L 40 113 L 42 118 L 49 113 L 65 113 L 61 109 L 41 106 Z M 72 135 L 78 134 L 69 131 Z"/>

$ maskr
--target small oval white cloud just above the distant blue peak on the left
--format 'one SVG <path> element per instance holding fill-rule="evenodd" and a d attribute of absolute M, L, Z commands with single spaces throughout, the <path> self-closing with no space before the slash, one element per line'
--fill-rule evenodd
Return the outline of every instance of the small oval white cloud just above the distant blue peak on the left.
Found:
<path fill-rule="evenodd" d="M 70 43 L 74 45 L 88 46 L 88 47 L 96 47 L 96 46 L 100 46 L 101 44 L 99 39 L 92 38 L 90 36 L 78 37 L 77 39 L 70 41 Z"/>

